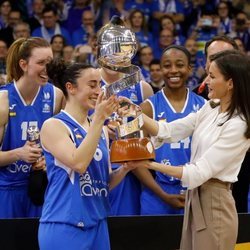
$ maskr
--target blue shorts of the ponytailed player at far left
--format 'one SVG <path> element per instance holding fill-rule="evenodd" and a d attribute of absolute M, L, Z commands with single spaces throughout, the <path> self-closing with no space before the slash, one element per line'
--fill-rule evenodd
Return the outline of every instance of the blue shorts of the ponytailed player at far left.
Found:
<path fill-rule="evenodd" d="M 27 186 L 0 187 L 0 218 L 40 217 L 41 206 L 35 206 L 29 196 Z"/>

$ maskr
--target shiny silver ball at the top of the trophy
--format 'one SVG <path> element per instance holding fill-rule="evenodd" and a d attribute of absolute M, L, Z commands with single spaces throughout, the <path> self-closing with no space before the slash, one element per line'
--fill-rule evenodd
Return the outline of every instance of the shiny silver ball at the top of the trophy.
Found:
<path fill-rule="evenodd" d="M 134 32 L 118 16 L 102 27 L 97 36 L 98 62 L 104 66 L 128 67 L 137 51 Z"/>

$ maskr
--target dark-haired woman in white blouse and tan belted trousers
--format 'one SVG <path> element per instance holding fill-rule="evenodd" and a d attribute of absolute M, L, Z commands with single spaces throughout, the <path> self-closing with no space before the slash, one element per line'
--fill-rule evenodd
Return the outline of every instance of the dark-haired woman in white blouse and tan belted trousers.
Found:
<path fill-rule="evenodd" d="M 211 56 L 207 79 L 211 99 L 197 113 L 167 123 L 146 115 L 144 128 L 156 147 L 192 135 L 190 163 L 179 166 L 131 162 L 171 175 L 188 188 L 180 249 L 233 250 L 238 216 L 232 196 L 250 146 L 250 60 L 238 51 Z"/>

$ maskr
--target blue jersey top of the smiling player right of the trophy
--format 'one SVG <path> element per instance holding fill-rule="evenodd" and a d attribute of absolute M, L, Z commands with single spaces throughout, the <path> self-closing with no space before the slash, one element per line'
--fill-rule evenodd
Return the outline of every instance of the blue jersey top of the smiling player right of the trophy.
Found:
<path fill-rule="evenodd" d="M 149 103 L 153 110 L 153 119 L 156 121 L 171 122 L 187 116 L 191 112 L 198 111 L 205 103 L 205 99 L 195 93 L 187 90 L 187 99 L 183 110 L 177 113 L 164 91 L 161 90 L 149 98 Z M 166 165 L 184 165 L 190 161 L 191 137 L 187 137 L 176 143 L 165 143 L 156 149 L 156 162 Z M 156 180 L 168 184 L 178 184 L 180 181 L 174 177 L 168 176 L 156 171 Z"/>

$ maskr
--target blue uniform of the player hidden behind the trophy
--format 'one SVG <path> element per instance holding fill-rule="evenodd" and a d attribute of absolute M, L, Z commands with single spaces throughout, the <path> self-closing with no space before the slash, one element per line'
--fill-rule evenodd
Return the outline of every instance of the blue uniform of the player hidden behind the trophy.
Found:
<path fill-rule="evenodd" d="M 102 81 L 102 85 L 105 83 Z M 129 98 L 133 103 L 139 105 L 143 102 L 142 83 L 137 83 L 117 94 Z M 112 164 L 115 170 L 120 164 Z M 139 215 L 140 214 L 141 183 L 129 172 L 125 178 L 110 191 L 109 201 L 111 205 L 111 216 L 115 215 Z"/>

